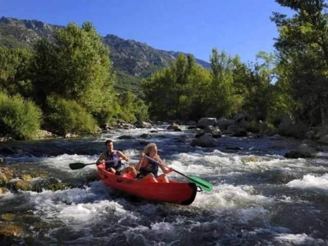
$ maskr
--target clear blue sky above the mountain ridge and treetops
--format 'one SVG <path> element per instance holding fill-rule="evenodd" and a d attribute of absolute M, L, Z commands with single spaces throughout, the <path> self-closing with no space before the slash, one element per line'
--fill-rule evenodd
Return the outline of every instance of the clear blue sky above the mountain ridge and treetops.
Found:
<path fill-rule="evenodd" d="M 90 20 L 105 36 L 135 39 L 156 49 L 192 53 L 209 60 L 212 48 L 254 61 L 273 52 L 277 28 L 272 12 L 291 14 L 274 0 L 0 0 L 0 16 L 49 24 Z"/>

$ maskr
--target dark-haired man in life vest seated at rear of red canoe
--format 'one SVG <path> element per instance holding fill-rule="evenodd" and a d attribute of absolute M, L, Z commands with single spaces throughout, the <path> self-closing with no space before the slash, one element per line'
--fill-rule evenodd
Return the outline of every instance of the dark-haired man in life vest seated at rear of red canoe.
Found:
<path fill-rule="evenodd" d="M 133 166 L 126 166 L 121 162 L 121 159 L 129 161 L 130 158 L 125 156 L 121 151 L 114 150 L 114 142 L 112 140 L 106 140 L 105 145 L 107 151 L 101 153 L 96 162 L 97 166 L 101 163 L 105 163 L 105 161 L 112 160 L 110 163 L 105 163 L 106 170 L 116 175 L 127 173 L 135 177 L 137 175 L 135 168 Z"/>

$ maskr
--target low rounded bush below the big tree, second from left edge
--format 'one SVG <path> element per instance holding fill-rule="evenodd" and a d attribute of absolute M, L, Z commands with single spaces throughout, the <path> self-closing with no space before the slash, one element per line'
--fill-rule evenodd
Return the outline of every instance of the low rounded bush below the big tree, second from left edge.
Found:
<path fill-rule="evenodd" d="M 76 101 L 49 96 L 47 106 L 50 113 L 46 117 L 46 127 L 49 130 L 59 134 L 96 132 L 96 120 Z"/>

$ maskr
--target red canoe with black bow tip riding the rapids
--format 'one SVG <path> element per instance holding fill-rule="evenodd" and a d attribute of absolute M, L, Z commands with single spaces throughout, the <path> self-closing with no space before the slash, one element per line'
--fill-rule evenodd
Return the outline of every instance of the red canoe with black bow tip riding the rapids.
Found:
<path fill-rule="evenodd" d="M 142 179 L 134 179 L 129 174 L 122 176 L 112 174 L 105 170 L 104 165 L 97 166 L 97 176 L 107 186 L 145 200 L 189 205 L 194 201 L 197 193 L 197 186 L 194 182 L 142 181 Z"/>

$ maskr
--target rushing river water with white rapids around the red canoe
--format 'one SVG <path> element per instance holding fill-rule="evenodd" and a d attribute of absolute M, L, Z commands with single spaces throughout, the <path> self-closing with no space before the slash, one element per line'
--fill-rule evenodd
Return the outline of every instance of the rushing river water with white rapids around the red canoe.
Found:
<path fill-rule="evenodd" d="M 286 159 L 299 142 L 268 137 L 223 136 L 218 147 L 191 147 L 196 130 L 166 127 L 16 142 L 23 151 L 5 156 L 2 166 L 70 183 L 65 190 L 0 195 L 0 214 L 15 214 L 24 228 L 17 245 L 328 245 L 328 153 Z M 140 138 L 144 133 L 151 138 Z M 94 162 L 108 138 L 130 164 L 144 149 L 140 141 L 155 142 L 167 165 L 211 182 L 213 190 L 198 192 L 190 206 L 149 202 L 105 186 L 93 165 L 70 170 L 71 162 Z"/>

